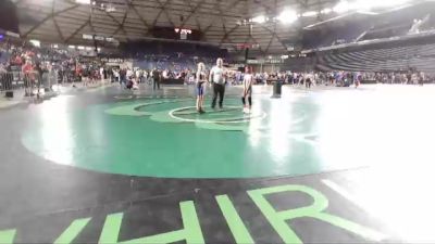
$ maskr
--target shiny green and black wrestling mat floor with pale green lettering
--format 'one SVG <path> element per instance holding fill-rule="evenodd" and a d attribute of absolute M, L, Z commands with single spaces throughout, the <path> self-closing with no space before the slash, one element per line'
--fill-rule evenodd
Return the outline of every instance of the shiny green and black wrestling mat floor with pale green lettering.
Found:
<path fill-rule="evenodd" d="M 435 87 L 71 89 L 0 110 L 0 243 L 435 242 Z M 207 91 L 210 93 L 210 91 Z"/>

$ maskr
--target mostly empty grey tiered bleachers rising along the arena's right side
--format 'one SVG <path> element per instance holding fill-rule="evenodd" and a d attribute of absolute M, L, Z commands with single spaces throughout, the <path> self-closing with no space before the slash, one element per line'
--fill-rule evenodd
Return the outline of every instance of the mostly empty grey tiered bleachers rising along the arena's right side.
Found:
<path fill-rule="evenodd" d="M 425 2 L 363 23 L 348 20 L 307 30 L 302 53 L 308 57 L 290 60 L 285 68 L 308 70 L 311 62 L 315 69 L 325 72 L 414 69 L 435 74 L 434 23 L 434 3 Z"/>

